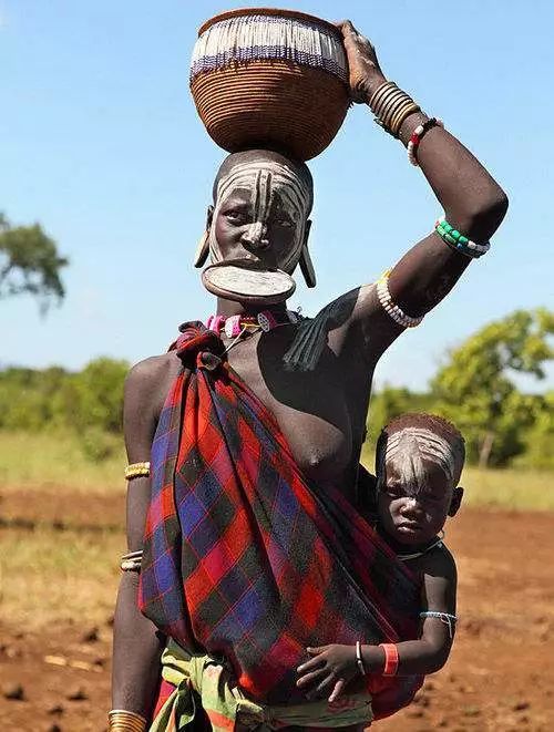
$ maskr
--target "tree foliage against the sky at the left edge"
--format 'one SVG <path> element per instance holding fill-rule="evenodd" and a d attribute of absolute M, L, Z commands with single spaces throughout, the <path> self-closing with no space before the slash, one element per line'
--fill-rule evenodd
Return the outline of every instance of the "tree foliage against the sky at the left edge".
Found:
<path fill-rule="evenodd" d="M 45 312 L 65 295 L 60 270 L 66 265 L 39 224 L 11 227 L 0 214 L 0 299 L 27 292 Z"/>

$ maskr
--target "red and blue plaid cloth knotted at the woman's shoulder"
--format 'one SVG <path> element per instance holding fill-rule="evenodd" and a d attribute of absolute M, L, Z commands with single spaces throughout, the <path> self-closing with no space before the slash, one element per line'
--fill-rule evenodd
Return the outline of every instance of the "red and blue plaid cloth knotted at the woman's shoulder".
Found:
<path fill-rule="evenodd" d="M 219 338 L 183 329 L 152 447 L 140 606 L 183 647 L 223 654 L 255 700 L 298 702 L 307 646 L 417 638 L 419 584 L 340 491 L 302 477 Z M 376 718 L 421 681 L 376 677 Z"/>

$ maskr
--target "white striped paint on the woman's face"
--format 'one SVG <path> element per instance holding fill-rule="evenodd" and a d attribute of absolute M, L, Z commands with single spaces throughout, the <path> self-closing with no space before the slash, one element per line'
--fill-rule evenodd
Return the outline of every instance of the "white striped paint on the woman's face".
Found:
<path fill-rule="evenodd" d="M 311 208 L 311 189 L 308 183 L 294 168 L 266 157 L 238 163 L 218 181 L 214 221 L 224 203 L 238 188 L 252 194 L 252 224 L 244 235 L 246 240 L 264 243 L 269 214 L 276 203 L 295 225 L 295 238 L 290 249 L 278 262 L 280 269 L 290 274 L 298 264 L 306 220 Z M 215 228 L 212 226 L 209 231 L 209 255 L 213 264 L 224 258 Z"/>

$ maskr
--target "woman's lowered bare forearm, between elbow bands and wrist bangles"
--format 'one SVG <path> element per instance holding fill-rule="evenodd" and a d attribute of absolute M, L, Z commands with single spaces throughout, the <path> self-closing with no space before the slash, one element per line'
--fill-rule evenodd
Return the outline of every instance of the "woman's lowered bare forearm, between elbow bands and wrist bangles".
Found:
<path fill-rule="evenodd" d="M 113 632 L 112 709 L 125 709 L 150 720 L 160 684 L 164 637 L 136 605 L 137 575 L 122 576 Z"/>

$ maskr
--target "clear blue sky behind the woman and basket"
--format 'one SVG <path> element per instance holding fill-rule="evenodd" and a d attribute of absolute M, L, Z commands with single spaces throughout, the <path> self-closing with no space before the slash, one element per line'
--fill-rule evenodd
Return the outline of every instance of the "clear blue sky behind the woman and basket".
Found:
<path fill-rule="evenodd" d="M 330 20 L 338 4 L 286 2 Z M 71 259 L 65 301 L 45 319 L 30 298 L 1 302 L 2 364 L 134 362 L 162 352 L 183 320 L 211 312 L 191 262 L 224 153 L 196 115 L 187 76 L 197 28 L 228 8 L 0 0 L 0 210 L 12 224 L 40 221 Z M 554 3 L 345 1 L 340 14 L 511 199 L 491 252 L 381 361 L 379 383 L 424 388 L 445 350 L 485 322 L 554 307 Z M 299 285 L 291 300 L 306 313 L 375 279 L 440 213 L 366 107 L 350 111 L 310 167 L 319 286 Z"/>

